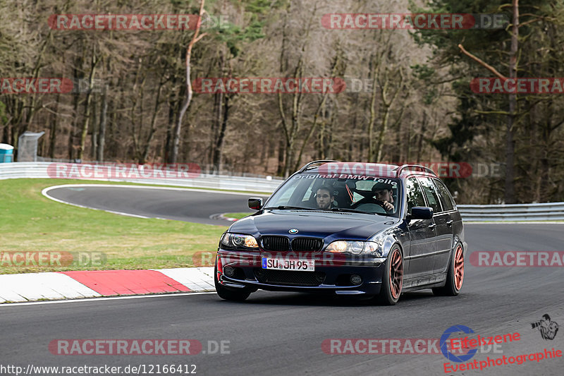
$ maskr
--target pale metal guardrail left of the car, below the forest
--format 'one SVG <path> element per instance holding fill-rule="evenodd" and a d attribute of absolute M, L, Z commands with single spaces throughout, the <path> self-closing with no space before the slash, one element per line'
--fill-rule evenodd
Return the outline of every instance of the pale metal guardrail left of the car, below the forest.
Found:
<path fill-rule="evenodd" d="M 0 180 L 8 178 L 50 178 L 47 167 L 51 162 L 14 162 L 0 164 Z M 244 190 L 272 193 L 283 182 L 280 178 L 250 178 L 200 174 L 193 178 L 88 178 L 80 180 L 127 181 L 130 183 L 157 184 L 190 188 Z"/>

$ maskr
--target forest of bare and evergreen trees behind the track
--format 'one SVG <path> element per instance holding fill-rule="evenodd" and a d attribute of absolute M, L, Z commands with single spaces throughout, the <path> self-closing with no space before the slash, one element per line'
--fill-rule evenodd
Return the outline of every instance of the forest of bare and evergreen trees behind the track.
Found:
<path fill-rule="evenodd" d="M 44 131 L 45 160 L 193 162 L 277 176 L 314 159 L 465 162 L 474 174 L 446 179 L 458 203 L 564 200 L 564 96 L 470 88 L 496 72 L 563 78 L 564 1 L 0 0 L 0 9 L 0 78 L 76 84 L 68 93 L 0 92 L 0 142 L 16 152 L 19 135 Z M 470 30 L 322 23 L 328 13 L 422 12 L 496 13 L 508 22 Z M 201 13 L 202 23 L 197 34 L 48 23 L 56 14 L 108 13 Z M 192 92 L 187 49 L 190 82 L 342 78 L 348 88 Z"/>

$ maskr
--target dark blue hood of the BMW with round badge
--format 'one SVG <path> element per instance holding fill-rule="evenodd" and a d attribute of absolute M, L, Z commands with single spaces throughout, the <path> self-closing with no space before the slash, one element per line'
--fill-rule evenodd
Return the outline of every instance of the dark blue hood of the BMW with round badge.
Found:
<path fill-rule="evenodd" d="M 378 214 L 321 212 L 309 210 L 263 210 L 240 219 L 229 231 L 241 234 L 312 236 L 316 238 L 367 239 L 398 222 Z M 290 229 L 298 233 L 290 234 Z M 328 239 L 329 240 L 329 239 Z"/>

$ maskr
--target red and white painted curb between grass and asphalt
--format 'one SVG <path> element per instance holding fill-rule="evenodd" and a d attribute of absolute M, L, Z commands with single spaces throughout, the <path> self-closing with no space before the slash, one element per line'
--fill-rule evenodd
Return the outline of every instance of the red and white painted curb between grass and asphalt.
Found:
<path fill-rule="evenodd" d="M 0 303 L 215 291 L 213 267 L 0 275 Z"/>

